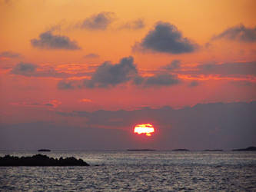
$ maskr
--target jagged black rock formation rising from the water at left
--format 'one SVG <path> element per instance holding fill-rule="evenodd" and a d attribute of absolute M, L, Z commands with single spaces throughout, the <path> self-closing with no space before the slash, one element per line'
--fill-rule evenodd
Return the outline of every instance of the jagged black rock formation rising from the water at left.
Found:
<path fill-rule="evenodd" d="M 89 166 L 85 161 L 75 157 L 53 158 L 43 154 L 32 157 L 0 157 L 0 166 Z"/>

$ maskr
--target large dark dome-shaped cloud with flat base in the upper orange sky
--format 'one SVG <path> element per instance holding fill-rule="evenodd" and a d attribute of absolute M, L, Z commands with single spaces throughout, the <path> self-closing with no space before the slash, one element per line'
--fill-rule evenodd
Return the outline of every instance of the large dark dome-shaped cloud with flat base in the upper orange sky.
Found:
<path fill-rule="evenodd" d="M 181 31 L 168 22 L 158 22 L 155 28 L 135 44 L 134 51 L 156 51 L 168 54 L 191 53 L 198 48 L 198 45 L 184 38 Z"/>

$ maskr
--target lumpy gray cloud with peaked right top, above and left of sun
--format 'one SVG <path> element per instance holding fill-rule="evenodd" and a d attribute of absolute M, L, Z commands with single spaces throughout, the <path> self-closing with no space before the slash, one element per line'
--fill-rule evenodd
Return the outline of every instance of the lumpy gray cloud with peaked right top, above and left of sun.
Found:
<path fill-rule="evenodd" d="M 100 65 L 90 80 L 85 80 L 87 88 L 106 88 L 130 81 L 138 73 L 134 59 L 130 56 L 122 58 L 118 64 L 106 61 Z"/>

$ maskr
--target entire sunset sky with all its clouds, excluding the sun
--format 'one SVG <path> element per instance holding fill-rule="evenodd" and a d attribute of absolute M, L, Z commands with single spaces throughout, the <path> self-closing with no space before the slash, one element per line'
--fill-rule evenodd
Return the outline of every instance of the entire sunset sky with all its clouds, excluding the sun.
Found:
<path fill-rule="evenodd" d="M 255 7 L 0 0 L 0 150 L 256 145 Z"/>

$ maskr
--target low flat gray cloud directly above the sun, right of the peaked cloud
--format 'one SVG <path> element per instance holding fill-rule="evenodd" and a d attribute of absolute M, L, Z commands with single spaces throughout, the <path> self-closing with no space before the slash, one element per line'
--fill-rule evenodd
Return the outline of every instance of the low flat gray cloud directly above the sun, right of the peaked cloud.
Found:
<path fill-rule="evenodd" d="M 170 86 L 180 83 L 178 77 L 174 74 L 156 74 L 152 77 L 145 78 L 145 86 Z"/>

